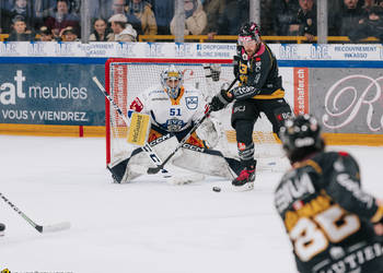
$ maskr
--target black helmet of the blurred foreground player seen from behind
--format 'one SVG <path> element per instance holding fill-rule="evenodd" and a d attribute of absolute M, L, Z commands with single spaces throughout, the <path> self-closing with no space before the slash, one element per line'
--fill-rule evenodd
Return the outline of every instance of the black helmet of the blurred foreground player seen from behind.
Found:
<path fill-rule="evenodd" d="M 321 126 L 316 118 L 309 114 L 287 119 L 280 128 L 279 136 L 291 162 L 301 161 L 309 154 L 324 149 Z"/>

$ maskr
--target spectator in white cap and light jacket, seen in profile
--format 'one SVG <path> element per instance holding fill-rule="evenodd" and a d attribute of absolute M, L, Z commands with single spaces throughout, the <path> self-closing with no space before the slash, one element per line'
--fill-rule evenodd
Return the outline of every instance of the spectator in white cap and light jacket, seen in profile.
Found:
<path fill-rule="evenodd" d="M 108 41 L 136 41 L 137 32 L 128 24 L 128 20 L 124 14 L 113 15 L 108 22 L 113 33 L 108 35 Z"/>

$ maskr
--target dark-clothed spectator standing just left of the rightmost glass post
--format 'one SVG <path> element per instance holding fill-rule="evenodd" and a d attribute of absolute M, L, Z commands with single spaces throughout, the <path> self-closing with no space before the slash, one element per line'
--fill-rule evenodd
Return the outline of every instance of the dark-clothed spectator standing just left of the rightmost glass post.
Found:
<path fill-rule="evenodd" d="M 316 4 L 314 0 L 299 0 L 298 11 L 299 35 L 314 41 L 316 36 Z"/>

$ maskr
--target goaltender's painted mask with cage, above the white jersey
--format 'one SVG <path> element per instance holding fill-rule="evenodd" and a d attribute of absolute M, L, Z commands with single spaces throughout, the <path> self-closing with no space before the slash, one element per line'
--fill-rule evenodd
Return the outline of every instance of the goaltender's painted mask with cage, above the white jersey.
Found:
<path fill-rule="evenodd" d="M 172 64 L 162 71 L 161 83 L 167 95 L 171 98 L 176 99 L 183 84 L 183 74 L 174 64 Z"/>

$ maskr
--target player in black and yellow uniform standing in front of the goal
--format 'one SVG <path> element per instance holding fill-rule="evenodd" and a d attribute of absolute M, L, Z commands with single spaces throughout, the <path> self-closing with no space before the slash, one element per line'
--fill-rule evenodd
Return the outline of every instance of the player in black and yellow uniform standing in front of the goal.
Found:
<path fill-rule="evenodd" d="M 240 86 L 230 92 L 223 88 L 212 98 L 210 106 L 212 111 L 217 111 L 235 100 L 231 123 L 235 129 L 243 170 L 232 183 L 247 190 L 254 188 L 256 161 L 253 129 L 259 114 L 266 115 L 276 134 L 283 120 L 291 116 L 276 57 L 260 40 L 259 28 L 255 23 L 246 23 L 240 31 L 234 75 L 240 80 Z"/>

